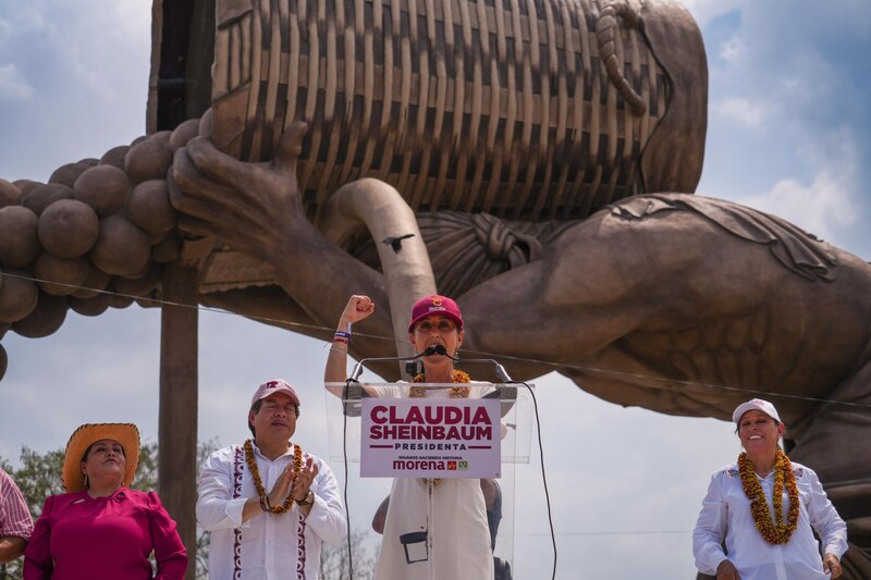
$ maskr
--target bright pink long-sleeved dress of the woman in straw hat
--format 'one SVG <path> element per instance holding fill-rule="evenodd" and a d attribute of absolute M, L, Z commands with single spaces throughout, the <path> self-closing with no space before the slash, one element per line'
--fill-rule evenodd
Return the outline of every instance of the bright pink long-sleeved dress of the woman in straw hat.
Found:
<path fill-rule="evenodd" d="M 47 497 L 24 551 L 25 580 L 181 580 L 186 567 L 175 522 L 157 494 L 126 488 L 109 497 Z"/>

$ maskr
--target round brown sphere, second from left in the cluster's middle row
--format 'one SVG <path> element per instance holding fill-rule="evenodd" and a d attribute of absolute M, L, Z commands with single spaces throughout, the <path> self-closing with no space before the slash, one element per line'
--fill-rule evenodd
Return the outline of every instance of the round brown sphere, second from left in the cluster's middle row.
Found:
<path fill-rule="evenodd" d="M 39 217 L 39 242 L 60 258 L 84 256 L 94 247 L 99 232 L 97 212 L 77 199 L 60 199 Z"/>

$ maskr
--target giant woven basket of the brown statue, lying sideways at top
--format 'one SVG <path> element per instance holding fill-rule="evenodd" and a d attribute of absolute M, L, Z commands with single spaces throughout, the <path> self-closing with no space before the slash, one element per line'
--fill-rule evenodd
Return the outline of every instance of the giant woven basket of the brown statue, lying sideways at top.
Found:
<path fill-rule="evenodd" d="M 660 146 L 657 172 L 666 178 L 642 171 L 651 136 L 687 85 L 698 95 L 672 116 L 700 120 L 678 119 L 672 124 L 686 128 L 672 133 L 696 149 L 704 139 L 701 40 L 683 9 L 660 4 L 667 10 L 594 0 L 218 0 L 212 138 L 240 159 L 266 160 L 285 127 L 308 122 L 299 185 L 312 218 L 330 193 L 366 176 L 396 187 L 416 211 L 533 221 L 584 218 L 651 184 L 691 192 L 700 152 Z M 668 50 L 689 52 L 680 66 L 695 70 L 664 67 L 651 30 L 671 35 L 682 46 Z"/>

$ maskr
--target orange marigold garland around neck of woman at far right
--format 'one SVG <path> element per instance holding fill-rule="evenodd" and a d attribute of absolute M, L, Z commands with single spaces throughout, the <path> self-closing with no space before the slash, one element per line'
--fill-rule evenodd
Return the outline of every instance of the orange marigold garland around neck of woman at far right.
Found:
<path fill-rule="evenodd" d="M 793 532 L 798 527 L 798 485 L 796 476 L 793 473 L 793 464 L 786 454 L 781 449 L 775 452 L 774 458 L 774 490 L 772 492 L 772 503 L 774 504 L 774 522 L 771 521 L 769 504 L 765 501 L 765 493 L 759 484 L 753 470 L 753 464 L 747 458 L 746 453 L 738 456 L 738 468 L 741 474 L 741 485 L 747 498 L 751 501 L 750 513 L 753 521 L 765 541 L 773 545 L 785 544 L 792 538 Z M 783 521 L 783 489 L 789 495 L 789 511 L 786 522 Z"/>

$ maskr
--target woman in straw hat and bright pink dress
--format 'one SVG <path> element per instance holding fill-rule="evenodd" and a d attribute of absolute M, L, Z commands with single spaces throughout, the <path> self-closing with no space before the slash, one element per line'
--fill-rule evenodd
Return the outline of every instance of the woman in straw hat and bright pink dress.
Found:
<path fill-rule="evenodd" d="M 73 432 L 62 471 L 68 493 L 46 498 L 24 552 L 26 580 L 184 578 L 187 554 L 175 522 L 156 493 L 130 489 L 138 460 L 132 423 Z"/>

